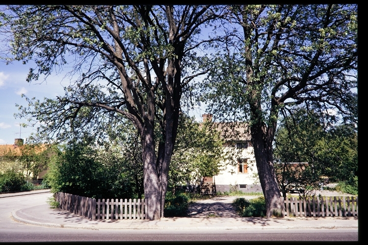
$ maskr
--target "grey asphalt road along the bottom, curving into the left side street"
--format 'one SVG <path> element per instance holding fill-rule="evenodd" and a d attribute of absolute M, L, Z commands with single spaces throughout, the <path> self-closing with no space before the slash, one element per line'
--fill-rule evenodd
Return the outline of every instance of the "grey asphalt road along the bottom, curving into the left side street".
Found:
<path fill-rule="evenodd" d="M 114 230 L 54 228 L 14 221 L 11 212 L 45 204 L 51 194 L 0 198 L 0 242 L 358 241 L 358 229 Z"/>

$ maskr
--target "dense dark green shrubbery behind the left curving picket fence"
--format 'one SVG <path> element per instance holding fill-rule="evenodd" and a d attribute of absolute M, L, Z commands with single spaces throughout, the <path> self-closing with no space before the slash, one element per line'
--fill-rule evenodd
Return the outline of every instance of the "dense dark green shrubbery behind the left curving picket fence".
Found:
<path fill-rule="evenodd" d="M 101 158 L 99 150 L 90 142 L 73 142 L 65 146 L 51 163 L 47 183 L 53 193 L 65 192 L 94 198 L 135 198 L 132 177 L 122 167 L 124 159 L 107 160 Z"/>

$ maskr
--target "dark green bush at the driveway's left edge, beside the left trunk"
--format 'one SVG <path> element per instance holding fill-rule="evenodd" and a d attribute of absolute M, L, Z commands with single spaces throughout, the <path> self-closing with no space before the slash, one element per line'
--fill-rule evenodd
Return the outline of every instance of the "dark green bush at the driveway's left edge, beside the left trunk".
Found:
<path fill-rule="evenodd" d="M 164 217 L 185 217 L 188 208 L 189 199 L 184 193 L 172 195 L 171 192 L 167 192 L 163 209 Z"/>

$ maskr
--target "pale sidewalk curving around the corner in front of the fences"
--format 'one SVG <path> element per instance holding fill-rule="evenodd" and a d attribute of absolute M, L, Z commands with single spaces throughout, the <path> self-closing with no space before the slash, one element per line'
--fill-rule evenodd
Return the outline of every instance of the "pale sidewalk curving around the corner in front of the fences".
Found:
<path fill-rule="evenodd" d="M 40 192 L 40 191 L 36 191 Z M 29 192 L 29 194 L 34 192 Z M 2 195 L 2 194 L 1 194 Z M 0 197 L 3 197 L 1 196 Z M 23 194 L 24 195 L 24 194 Z M 19 195 L 18 195 L 19 196 Z M 224 229 L 336 229 L 358 228 L 357 217 L 295 217 L 295 218 L 162 218 L 146 220 L 89 220 L 49 204 L 17 210 L 15 221 L 33 225 L 84 229 L 168 229 L 168 230 L 224 230 Z"/>

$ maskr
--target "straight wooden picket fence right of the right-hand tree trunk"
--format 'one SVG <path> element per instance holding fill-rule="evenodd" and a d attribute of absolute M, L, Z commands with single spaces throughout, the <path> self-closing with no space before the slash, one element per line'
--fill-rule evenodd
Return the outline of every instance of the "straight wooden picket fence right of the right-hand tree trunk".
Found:
<path fill-rule="evenodd" d="M 284 200 L 282 216 L 335 217 L 358 216 L 358 196 L 308 196 L 305 199 L 289 197 Z"/>

